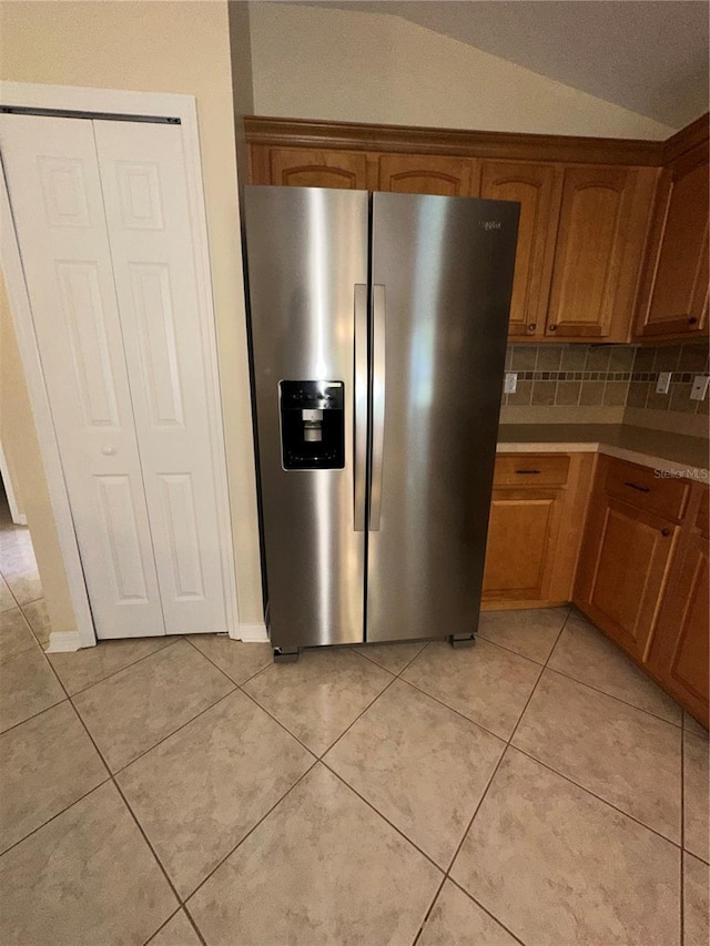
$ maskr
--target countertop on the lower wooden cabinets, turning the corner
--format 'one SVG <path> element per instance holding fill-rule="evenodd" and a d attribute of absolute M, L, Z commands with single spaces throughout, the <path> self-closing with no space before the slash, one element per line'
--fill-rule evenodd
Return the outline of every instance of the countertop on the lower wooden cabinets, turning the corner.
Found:
<path fill-rule="evenodd" d="M 708 440 L 626 424 L 501 424 L 498 452 L 600 452 L 708 481 Z"/>

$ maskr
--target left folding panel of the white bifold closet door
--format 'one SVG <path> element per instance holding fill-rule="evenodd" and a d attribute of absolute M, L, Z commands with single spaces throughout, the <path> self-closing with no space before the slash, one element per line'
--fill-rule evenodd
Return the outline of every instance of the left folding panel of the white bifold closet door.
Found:
<path fill-rule="evenodd" d="M 0 151 L 97 637 L 164 634 L 91 122 L 0 115 Z"/>

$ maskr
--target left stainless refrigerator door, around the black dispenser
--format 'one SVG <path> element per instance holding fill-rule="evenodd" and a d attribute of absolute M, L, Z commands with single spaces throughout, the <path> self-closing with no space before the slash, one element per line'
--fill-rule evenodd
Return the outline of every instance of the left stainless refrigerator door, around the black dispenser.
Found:
<path fill-rule="evenodd" d="M 361 286 L 362 322 L 368 196 L 355 191 L 247 186 L 245 214 L 272 643 L 290 650 L 362 641 L 366 532 L 364 509 L 355 505 L 356 488 L 364 503 L 363 476 L 356 477 L 354 462 L 355 287 Z M 358 355 L 362 360 L 362 349 Z M 327 383 L 322 386 L 324 397 L 337 389 L 332 386 L 343 384 L 343 468 L 283 468 L 282 382 Z M 281 388 L 296 398 L 317 393 L 307 385 Z M 364 401 L 362 397 L 358 452 L 366 425 Z M 294 404 L 300 415 L 301 401 Z M 318 424 L 323 421 L 325 437 L 331 419 L 315 400 L 307 407 L 302 418 L 306 464 L 314 450 L 318 452 L 313 439 L 318 437 Z M 293 443 L 291 449 L 297 459 Z"/>

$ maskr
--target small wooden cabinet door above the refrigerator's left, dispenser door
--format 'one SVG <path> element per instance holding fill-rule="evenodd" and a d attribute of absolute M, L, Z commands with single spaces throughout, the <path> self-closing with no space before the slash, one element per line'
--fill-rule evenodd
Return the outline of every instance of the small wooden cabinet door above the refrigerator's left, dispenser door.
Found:
<path fill-rule="evenodd" d="M 359 151 L 274 148 L 268 154 L 268 183 L 366 191 L 367 155 Z"/>

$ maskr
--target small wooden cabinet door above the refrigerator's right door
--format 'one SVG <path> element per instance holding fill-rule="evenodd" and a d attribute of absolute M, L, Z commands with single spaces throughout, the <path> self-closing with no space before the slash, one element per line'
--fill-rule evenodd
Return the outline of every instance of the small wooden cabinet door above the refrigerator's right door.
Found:
<path fill-rule="evenodd" d="M 383 154 L 378 190 L 473 197 L 475 159 L 437 154 Z"/>

